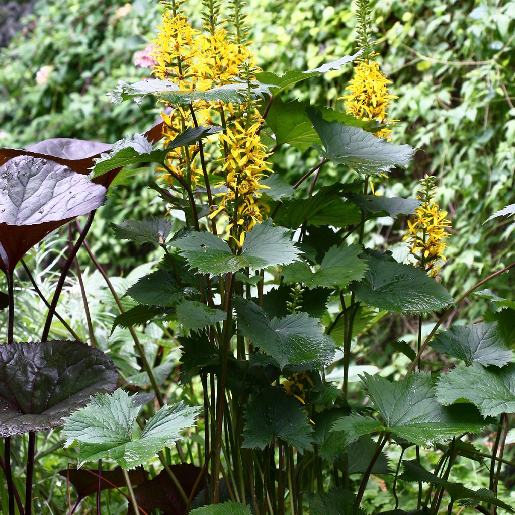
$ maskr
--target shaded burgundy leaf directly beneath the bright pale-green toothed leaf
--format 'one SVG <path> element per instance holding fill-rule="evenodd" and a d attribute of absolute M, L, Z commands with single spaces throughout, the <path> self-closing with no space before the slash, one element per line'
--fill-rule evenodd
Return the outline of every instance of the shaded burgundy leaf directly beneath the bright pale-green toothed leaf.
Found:
<path fill-rule="evenodd" d="M 148 472 L 143 470 L 143 467 L 136 467 L 135 469 L 128 470 L 130 482 L 132 485 L 141 485 L 148 477 Z M 98 489 L 98 470 L 93 469 L 69 469 L 59 471 L 64 477 L 70 477 L 70 483 L 77 490 L 79 499 L 96 493 Z M 69 474 L 69 475 L 68 475 Z M 100 474 L 102 481 L 100 483 L 100 490 L 109 490 L 110 488 L 124 487 L 125 477 L 121 467 L 116 467 L 113 470 L 104 471 Z"/>

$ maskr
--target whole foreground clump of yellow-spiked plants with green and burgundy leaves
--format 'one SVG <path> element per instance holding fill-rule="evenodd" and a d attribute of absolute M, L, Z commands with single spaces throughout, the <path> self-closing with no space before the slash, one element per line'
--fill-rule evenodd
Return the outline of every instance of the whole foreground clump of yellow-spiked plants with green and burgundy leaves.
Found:
<path fill-rule="evenodd" d="M 64 447 L 77 449 L 77 468 L 60 472 L 77 492 L 72 506 L 68 491 L 64 511 L 100 513 L 103 502 L 147 515 L 436 514 L 458 504 L 460 512 L 513 512 L 501 477 L 515 413 L 515 305 L 485 290 L 496 304 L 484 321 L 438 330 L 515 263 L 454 299 L 442 284 L 452 237 L 435 178 L 420 181 L 416 198 L 376 194 L 416 150 L 391 142 L 397 97 L 374 50 L 368 2 L 357 2 L 353 55 L 283 75 L 259 67 L 239 0 L 203 0 L 202 30 L 187 3 L 164 6 L 145 50 L 153 78 L 120 81 L 109 93 L 114 105 L 157 101 L 154 126 L 113 145 L 57 139 L 0 150 L 9 307 L 0 435 L 9 515 L 30 515 L 36 434 L 60 426 Z M 346 112 L 285 100 L 288 89 L 350 63 Z M 274 171 L 274 154 L 287 145 L 306 158 L 296 163 L 295 182 Z M 319 161 L 310 166 L 314 151 Z M 142 163 L 156 166 L 151 187 L 162 216 L 111 229 L 161 258 L 134 280 L 110 278 L 87 234 L 113 180 Z M 81 227 L 74 219 L 84 214 Z M 405 262 L 373 246 L 368 228 L 383 216 L 409 216 Z M 68 222 L 52 300 L 38 290 L 48 305 L 41 341 L 14 342 L 16 266 L 30 275 L 25 253 Z M 81 247 L 105 284 L 94 291 L 76 260 Z M 90 345 L 47 341 L 72 265 Z M 110 334 L 95 331 L 88 298 L 115 306 Z M 418 337 L 412 345 L 392 341 L 394 357 L 409 359 L 380 370 L 367 333 L 399 315 L 414 317 Z M 424 320 L 434 322 L 426 334 Z M 482 452 L 474 443 L 488 428 L 495 436 Z M 11 437 L 25 432 L 23 504 Z M 480 488 L 455 476 L 462 460 L 488 463 Z M 95 468 L 82 468 L 90 462 Z M 373 482 L 385 492 L 375 505 Z M 112 501 L 113 489 L 128 508 Z M 86 508 L 94 494 L 96 506 Z"/>

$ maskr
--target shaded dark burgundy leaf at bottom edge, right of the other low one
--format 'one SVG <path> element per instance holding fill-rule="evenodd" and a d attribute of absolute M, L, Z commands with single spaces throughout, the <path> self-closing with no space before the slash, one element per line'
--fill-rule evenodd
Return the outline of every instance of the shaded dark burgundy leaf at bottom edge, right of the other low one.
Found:
<path fill-rule="evenodd" d="M 170 469 L 179 480 L 186 497 L 190 497 L 195 483 L 197 483 L 197 486 L 192 497 L 202 490 L 204 486 L 203 478 L 201 477 L 197 482 L 202 470 L 200 467 L 195 467 L 191 463 L 183 463 L 181 465 L 172 465 Z M 160 509 L 163 511 L 163 515 L 184 515 L 186 510 L 186 504 L 166 471 L 162 471 L 151 481 L 147 481 L 134 489 L 134 495 L 136 496 L 138 506 L 147 513 Z M 134 515 L 130 504 L 127 515 Z"/>

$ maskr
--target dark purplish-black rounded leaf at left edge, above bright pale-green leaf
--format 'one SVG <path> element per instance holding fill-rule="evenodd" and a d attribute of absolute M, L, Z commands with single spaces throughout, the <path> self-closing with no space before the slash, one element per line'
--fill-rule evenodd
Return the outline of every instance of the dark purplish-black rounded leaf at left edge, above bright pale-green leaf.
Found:
<path fill-rule="evenodd" d="M 0 437 L 59 427 L 117 380 L 111 359 L 80 341 L 2 344 Z"/>

